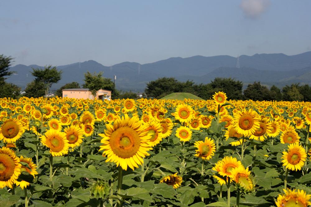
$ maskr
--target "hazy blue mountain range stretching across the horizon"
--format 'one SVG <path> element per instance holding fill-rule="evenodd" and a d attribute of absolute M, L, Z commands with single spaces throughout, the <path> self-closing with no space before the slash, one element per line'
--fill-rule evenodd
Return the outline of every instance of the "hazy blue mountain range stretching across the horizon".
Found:
<path fill-rule="evenodd" d="M 239 67 L 237 61 L 239 60 Z M 26 84 L 34 80 L 32 68 L 43 68 L 38 65 L 15 65 L 10 68 L 14 75 L 7 82 L 25 89 Z M 298 55 L 255 54 L 241 55 L 239 58 L 228 55 L 212 57 L 193 56 L 189 58 L 169 58 L 153 63 L 122 62 L 113 66 L 104 66 L 94 60 L 76 62 L 57 66 L 62 70 L 62 79 L 53 84 L 51 90 L 57 90 L 66 83 L 76 81 L 84 83 L 86 71 L 103 72 L 104 77 L 113 80 L 117 76 L 118 90 L 143 92 L 146 83 L 159 77 L 175 77 L 179 81 L 193 80 L 195 83 L 207 84 L 216 77 L 234 78 L 244 85 L 260 81 L 267 86 L 283 87 L 292 83 L 311 85 L 311 51 Z"/>

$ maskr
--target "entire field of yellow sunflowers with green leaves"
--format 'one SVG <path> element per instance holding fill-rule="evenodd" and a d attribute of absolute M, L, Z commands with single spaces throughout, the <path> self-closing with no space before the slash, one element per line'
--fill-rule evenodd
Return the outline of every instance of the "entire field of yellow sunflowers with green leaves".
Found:
<path fill-rule="evenodd" d="M 0 99 L 0 206 L 311 205 L 309 102 Z"/>

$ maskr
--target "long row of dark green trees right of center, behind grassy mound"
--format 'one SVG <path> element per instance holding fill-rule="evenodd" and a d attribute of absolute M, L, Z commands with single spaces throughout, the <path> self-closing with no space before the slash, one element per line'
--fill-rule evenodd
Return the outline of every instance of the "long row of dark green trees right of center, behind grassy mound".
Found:
<path fill-rule="evenodd" d="M 173 77 L 158 78 L 150 81 L 145 89 L 146 98 L 160 99 L 176 92 L 192 93 L 202 99 L 211 99 L 218 91 L 226 93 L 228 99 L 253 101 L 311 101 L 311 87 L 307 84 L 291 84 L 279 89 L 272 85 L 270 89 L 260 82 L 248 84 L 243 91 L 243 82 L 232 78 L 215 78 L 208 84 L 195 84 L 193 81 L 181 82 Z"/>

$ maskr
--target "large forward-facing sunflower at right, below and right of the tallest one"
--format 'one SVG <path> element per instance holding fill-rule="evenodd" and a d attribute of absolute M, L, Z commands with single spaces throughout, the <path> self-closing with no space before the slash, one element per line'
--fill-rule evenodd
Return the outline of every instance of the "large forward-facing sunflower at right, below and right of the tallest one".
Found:
<path fill-rule="evenodd" d="M 234 115 L 234 121 L 235 130 L 244 136 L 252 135 L 260 128 L 260 116 L 252 109 L 249 109 L 248 111 L 244 109 L 243 112 L 238 111 Z"/>

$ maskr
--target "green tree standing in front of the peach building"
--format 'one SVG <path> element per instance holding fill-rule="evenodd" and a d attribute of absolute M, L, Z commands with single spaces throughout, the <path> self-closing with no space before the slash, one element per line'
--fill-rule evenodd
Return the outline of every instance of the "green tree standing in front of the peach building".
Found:
<path fill-rule="evenodd" d="M 102 76 L 103 73 L 94 72 L 93 74 L 87 71 L 84 74 L 84 84 L 82 85 L 83 88 L 88 88 L 92 95 L 95 97 L 96 92 L 100 89 L 111 90 L 111 96 L 116 99 L 119 97 L 119 93 L 117 90 L 114 89 L 114 82 L 111 81 L 110 78 L 105 78 Z"/>

